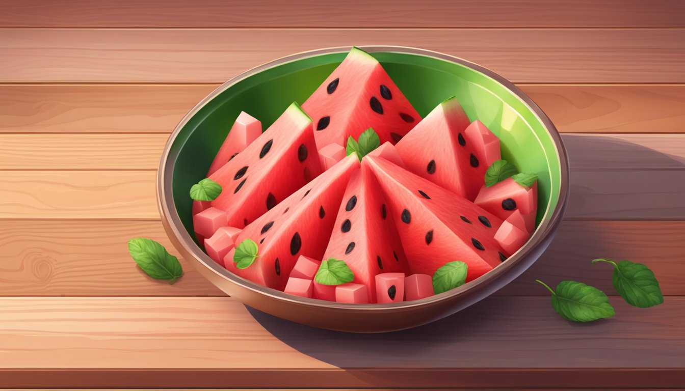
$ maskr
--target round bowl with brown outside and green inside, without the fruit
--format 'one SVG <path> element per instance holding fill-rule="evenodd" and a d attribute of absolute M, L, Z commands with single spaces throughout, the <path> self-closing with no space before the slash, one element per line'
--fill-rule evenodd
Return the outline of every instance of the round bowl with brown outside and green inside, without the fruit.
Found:
<path fill-rule="evenodd" d="M 505 286 L 545 251 L 569 195 L 569 163 L 558 131 L 510 81 L 450 55 L 409 47 L 363 47 L 381 62 L 416 110 L 425 116 L 456 95 L 471 120 L 501 140 L 502 158 L 538 173 L 536 230 L 519 251 L 489 273 L 448 292 L 417 301 L 346 304 L 291 296 L 242 279 L 216 264 L 195 241 L 188 190 L 204 178 L 241 110 L 264 129 L 293 101 L 302 103 L 340 64 L 349 47 L 290 55 L 258 66 L 217 88 L 192 108 L 162 152 L 157 198 L 166 234 L 177 251 L 223 292 L 257 310 L 298 323 L 359 333 L 408 329 L 454 314 Z M 181 282 L 182 283 L 182 282 Z"/>

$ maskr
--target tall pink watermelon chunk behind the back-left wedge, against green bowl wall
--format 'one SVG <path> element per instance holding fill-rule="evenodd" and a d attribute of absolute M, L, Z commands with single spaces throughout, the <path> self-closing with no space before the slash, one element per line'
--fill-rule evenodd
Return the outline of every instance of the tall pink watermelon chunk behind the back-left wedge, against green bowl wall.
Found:
<path fill-rule="evenodd" d="M 231 160 L 237 153 L 242 152 L 260 134 L 262 134 L 262 123 L 250 114 L 240 112 L 236 122 L 231 127 L 231 131 L 229 131 L 228 136 L 226 136 L 223 144 L 221 144 L 219 153 L 216 153 L 207 176 L 212 175 L 214 171 L 219 170 L 221 166 Z"/>

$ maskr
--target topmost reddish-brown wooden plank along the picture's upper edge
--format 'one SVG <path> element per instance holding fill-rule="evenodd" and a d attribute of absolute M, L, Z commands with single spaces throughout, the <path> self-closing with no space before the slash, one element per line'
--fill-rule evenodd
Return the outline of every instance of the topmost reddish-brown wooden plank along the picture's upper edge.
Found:
<path fill-rule="evenodd" d="M 7 0 L 0 27 L 684 27 L 682 2 Z M 497 12 L 493 12 L 497 10 Z M 512 17 L 515 14 L 516 17 Z M 382 17 L 379 17 L 382 15 Z"/>

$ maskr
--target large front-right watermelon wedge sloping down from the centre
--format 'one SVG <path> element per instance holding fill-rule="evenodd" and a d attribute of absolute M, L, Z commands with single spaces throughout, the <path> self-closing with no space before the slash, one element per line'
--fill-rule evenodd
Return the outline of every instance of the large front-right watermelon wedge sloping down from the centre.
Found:
<path fill-rule="evenodd" d="M 364 165 L 388 200 L 412 273 L 433 275 L 459 260 L 468 266 L 466 281 L 471 281 L 505 258 L 494 239 L 502 223 L 497 216 L 387 160 L 367 155 Z"/>

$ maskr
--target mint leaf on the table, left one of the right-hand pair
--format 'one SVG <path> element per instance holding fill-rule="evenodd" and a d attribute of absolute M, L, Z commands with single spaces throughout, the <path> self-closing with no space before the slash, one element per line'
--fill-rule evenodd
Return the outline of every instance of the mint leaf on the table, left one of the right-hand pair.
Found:
<path fill-rule="evenodd" d="M 576 281 L 561 281 L 555 292 L 543 281 L 535 281 L 552 292 L 552 307 L 566 320 L 592 322 L 616 314 L 606 294 L 594 286 Z"/>

